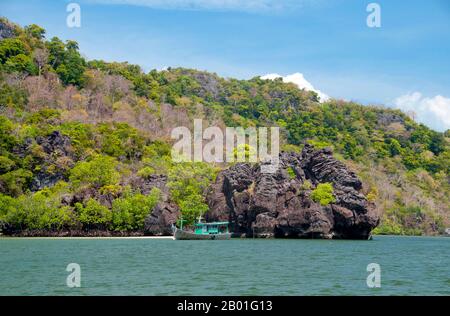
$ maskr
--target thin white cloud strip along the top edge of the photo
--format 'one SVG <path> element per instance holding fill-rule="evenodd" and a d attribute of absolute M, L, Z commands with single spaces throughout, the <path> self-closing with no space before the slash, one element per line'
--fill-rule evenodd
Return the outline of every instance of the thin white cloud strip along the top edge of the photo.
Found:
<path fill-rule="evenodd" d="M 302 7 L 312 0 L 87 0 L 99 4 L 123 4 L 155 9 L 273 12 Z"/>

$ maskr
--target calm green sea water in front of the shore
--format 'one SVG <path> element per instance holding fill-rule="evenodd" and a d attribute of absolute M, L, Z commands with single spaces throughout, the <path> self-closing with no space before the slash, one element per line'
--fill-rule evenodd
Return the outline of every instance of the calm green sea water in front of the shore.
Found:
<path fill-rule="evenodd" d="M 370 263 L 380 288 L 366 284 Z M 0 295 L 450 295 L 450 238 L 0 238 L 0 271 Z"/>

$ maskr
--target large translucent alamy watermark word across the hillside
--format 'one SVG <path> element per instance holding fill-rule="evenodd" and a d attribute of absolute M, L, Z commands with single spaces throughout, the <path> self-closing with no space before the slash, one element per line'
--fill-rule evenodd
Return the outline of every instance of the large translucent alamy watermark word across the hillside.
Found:
<path fill-rule="evenodd" d="M 268 153 L 270 131 L 270 154 Z M 261 172 L 275 173 L 280 151 L 279 127 L 220 127 L 203 130 L 203 121 L 194 120 L 194 132 L 185 126 L 175 127 L 171 138 L 174 162 L 262 162 Z M 204 144 L 204 141 L 207 141 Z M 225 147 L 225 154 L 224 154 Z"/>

